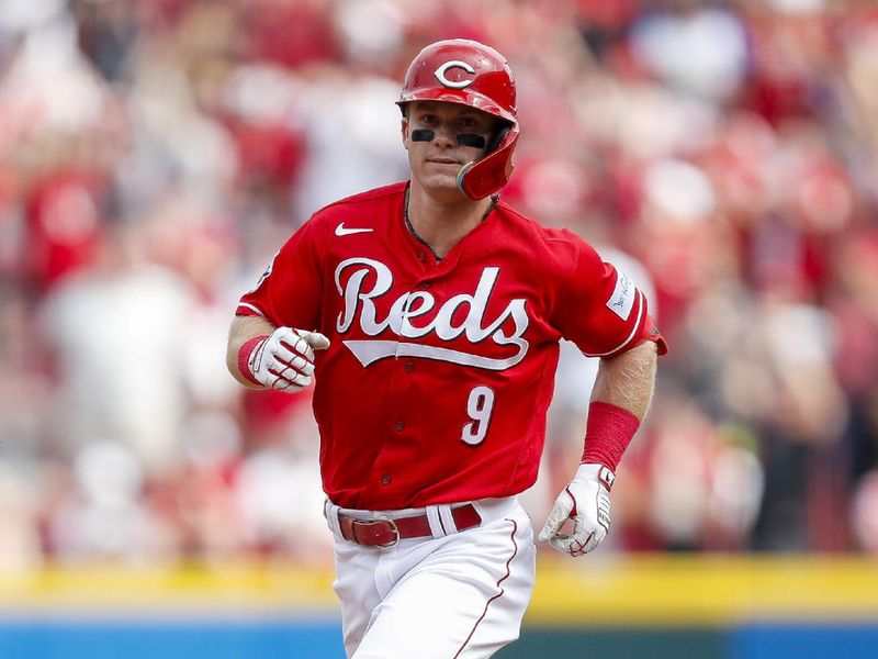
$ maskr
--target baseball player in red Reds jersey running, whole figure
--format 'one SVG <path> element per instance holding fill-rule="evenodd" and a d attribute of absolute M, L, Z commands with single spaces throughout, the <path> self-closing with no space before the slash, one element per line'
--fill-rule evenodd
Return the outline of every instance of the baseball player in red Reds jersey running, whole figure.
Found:
<path fill-rule="evenodd" d="M 491 657 L 533 587 L 516 495 L 537 478 L 559 340 L 603 358 L 582 465 L 539 536 L 571 556 L 609 529 L 665 344 L 628 277 L 500 201 L 519 125 L 499 53 L 427 46 L 397 104 L 410 179 L 293 234 L 240 300 L 228 366 L 248 387 L 315 383 L 348 656 Z"/>

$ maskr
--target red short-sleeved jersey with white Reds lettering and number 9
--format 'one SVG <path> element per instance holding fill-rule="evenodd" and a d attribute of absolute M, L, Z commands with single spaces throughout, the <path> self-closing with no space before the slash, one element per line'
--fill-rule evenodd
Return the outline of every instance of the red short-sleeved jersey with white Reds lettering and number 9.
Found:
<path fill-rule="evenodd" d="M 504 202 L 442 259 L 407 227 L 406 183 L 315 213 L 239 315 L 317 330 L 314 414 L 337 505 L 420 507 L 529 488 L 559 339 L 610 357 L 664 340 L 631 280 Z"/>

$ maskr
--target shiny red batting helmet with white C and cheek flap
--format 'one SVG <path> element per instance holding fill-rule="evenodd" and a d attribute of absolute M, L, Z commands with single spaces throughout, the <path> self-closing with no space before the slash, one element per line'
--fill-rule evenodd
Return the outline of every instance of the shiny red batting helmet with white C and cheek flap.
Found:
<path fill-rule="evenodd" d="M 430 44 L 409 65 L 396 104 L 412 101 L 460 103 L 502 119 L 506 125 L 485 155 L 461 168 L 458 188 L 471 199 L 483 199 L 509 182 L 519 130 L 515 80 L 503 55 L 465 38 Z"/>

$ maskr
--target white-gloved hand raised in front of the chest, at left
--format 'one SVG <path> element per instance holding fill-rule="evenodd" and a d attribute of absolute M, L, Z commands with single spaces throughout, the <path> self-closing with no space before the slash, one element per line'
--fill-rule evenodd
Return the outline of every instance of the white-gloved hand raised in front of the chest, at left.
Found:
<path fill-rule="evenodd" d="M 319 332 L 278 327 L 257 344 L 247 366 L 261 384 L 293 393 L 311 384 L 314 350 L 325 350 L 329 339 Z"/>

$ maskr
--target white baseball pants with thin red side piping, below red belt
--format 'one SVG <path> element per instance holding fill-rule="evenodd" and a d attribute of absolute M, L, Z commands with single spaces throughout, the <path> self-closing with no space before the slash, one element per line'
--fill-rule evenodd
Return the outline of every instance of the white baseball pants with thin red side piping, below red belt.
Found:
<path fill-rule="evenodd" d="M 349 658 L 481 659 L 518 638 L 536 573 L 530 518 L 515 496 L 473 504 L 482 524 L 446 535 L 447 505 L 367 512 L 327 501 Z M 365 520 L 426 512 L 434 537 L 363 547 L 341 537 L 339 510 Z"/>

